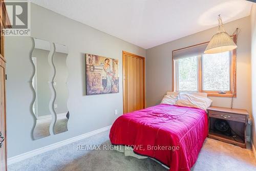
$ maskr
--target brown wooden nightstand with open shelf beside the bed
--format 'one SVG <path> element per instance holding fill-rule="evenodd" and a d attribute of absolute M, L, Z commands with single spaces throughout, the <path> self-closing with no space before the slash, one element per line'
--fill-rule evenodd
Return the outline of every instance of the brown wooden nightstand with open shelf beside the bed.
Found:
<path fill-rule="evenodd" d="M 209 138 L 246 148 L 246 126 L 249 117 L 246 110 L 210 106 L 207 111 L 209 116 Z M 216 119 L 226 120 L 233 136 L 227 136 L 216 131 L 214 126 Z"/>

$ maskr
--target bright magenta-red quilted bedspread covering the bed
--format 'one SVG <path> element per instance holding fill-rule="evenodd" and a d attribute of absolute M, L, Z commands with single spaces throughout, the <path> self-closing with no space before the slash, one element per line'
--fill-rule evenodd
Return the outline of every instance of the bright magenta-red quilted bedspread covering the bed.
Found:
<path fill-rule="evenodd" d="M 170 170 L 190 170 L 207 133 L 204 110 L 159 104 L 117 118 L 110 140 L 132 146 L 135 153 L 155 158 Z"/>

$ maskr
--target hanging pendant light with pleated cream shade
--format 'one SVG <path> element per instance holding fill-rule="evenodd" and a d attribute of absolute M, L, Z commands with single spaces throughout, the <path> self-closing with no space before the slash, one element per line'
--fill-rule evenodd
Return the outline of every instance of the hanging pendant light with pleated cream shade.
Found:
<path fill-rule="evenodd" d="M 208 46 L 206 47 L 204 53 L 222 53 L 226 51 L 231 51 L 237 48 L 230 35 L 225 31 L 221 16 L 218 16 L 219 28 L 218 33 L 211 37 Z"/>

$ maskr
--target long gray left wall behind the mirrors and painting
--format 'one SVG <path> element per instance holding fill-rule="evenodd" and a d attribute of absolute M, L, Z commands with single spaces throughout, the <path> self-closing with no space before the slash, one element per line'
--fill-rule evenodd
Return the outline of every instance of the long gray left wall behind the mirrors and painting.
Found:
<path fill-rule="evenodd" d="M 32 39 L 6 37 L 8 157 L 111 125 L 122 114 L 122 50 L 144 57 L 146 54 L 140 47 L 34 4 L 31 4 L 31 36 L 66 45 L 69 49 L 69 131 L 32 140 L 33 92 L 29 82 L 33 73 Z M 119 59 L 119 93 L 84 95 L 85 53 Z M 118 115 L 114 115 L 115 109 Z"/>

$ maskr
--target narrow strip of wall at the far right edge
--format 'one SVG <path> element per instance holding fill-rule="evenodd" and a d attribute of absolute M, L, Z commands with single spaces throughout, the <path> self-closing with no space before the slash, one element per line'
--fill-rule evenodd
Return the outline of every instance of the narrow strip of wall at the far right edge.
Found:
<path fill-rule="evenodd" d="M 256 4 L 251 9 L 251 81 L 252 81 L 252 126 L 251 139 L 256 147 Z"/>

